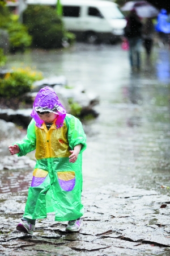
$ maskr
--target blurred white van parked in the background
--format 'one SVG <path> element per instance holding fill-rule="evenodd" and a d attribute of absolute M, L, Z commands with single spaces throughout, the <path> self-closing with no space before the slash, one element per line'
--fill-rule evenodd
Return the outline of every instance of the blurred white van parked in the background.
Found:
<path fill-rule="evenodd" d="M 56 6 L 56 0 L 27 0 L 27 5 Z M 124 34 L 126 19 L 116 3 L 104 0 L 61 0 L 63 23 L 77 40 L 115 42 Z"/>

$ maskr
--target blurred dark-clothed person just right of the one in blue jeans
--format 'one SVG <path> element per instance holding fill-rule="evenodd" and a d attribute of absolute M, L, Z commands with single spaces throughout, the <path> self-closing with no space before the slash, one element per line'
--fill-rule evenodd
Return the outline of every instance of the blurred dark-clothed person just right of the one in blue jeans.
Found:
<path fill-rule="evenodd" d="M 152 18 L 146 18 L 142 26 L 142 38 L 143 46 L 146 50 L 147 60 L 150 60 L 150 55 L 154 44 L 154 32 L 155 28 L 154 24 L 152 23 Z"/>

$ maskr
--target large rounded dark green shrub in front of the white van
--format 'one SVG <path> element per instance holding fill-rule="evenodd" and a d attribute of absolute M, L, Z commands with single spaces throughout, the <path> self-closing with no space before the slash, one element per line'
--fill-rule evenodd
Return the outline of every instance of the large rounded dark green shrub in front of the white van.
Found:
<path fill-rule="evenodd" d="M 50 6 L 30 5 L 23 13 L 23 23 L 33 37 L 33 46 L 44 49 L 62 47 L 64 29 L 61 19 Z"/>

